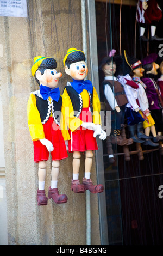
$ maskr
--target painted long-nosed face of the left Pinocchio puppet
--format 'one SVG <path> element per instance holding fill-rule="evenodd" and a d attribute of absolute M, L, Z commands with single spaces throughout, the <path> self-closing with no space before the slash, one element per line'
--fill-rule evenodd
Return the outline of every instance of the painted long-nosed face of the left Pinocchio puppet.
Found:
<path fill-rule="evenodd" d="M 36 71 L 36 77 L 40 81 L 42 86 L 47 86 L 49 88 L 55 88 L 58 86 L 59 77 L 61 73 L 57 73 L 55 69 L 46 69 L 44 74 L 41 75 L 40 71 Z"/>

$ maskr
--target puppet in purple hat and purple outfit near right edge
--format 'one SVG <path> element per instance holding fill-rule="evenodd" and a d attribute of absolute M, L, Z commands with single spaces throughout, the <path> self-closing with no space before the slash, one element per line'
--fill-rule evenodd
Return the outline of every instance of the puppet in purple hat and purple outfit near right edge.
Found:
<path fill-rule="evenodd" d="M 158 96 L 158 84 L 155 81 L 155 77 L 158 74 L 159 65 L 155 62 L 157 59 L 156 53 L 151 53 L 149 56 L 143 58 L 142 66 L 145 69 L 145 78 L 141 78 L 142 82 L 146 85 L 146 94 L 149 102 L 149 110 L 151 115 L 155 121 L 155 129 L 157 136 L 156 141 L 158 139 L 162 139 L 160 137 L 160 132 L 163 130 L 163 120 L 162 120 L 162 108 L 159 102 Z"/>

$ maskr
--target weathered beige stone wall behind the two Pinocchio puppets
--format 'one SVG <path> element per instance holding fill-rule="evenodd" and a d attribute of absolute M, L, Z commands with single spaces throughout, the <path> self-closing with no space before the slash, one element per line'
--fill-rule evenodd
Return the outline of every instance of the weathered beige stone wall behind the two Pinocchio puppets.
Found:
<path fill-rule="evenodd" d="M 71 191 L 72 154 L 60 161 L 58 188 L 68 202 L 37 206 L 38 166 L 27 124 L 30 92 L 39 89 L 30 68 L 35 56 L 55 57 L 62 72 L 60 92 L 70 79 L 62 59 L 68 48 L 82 50 L 79 0 L 29 0 L 28 18 L 0 17 L 3 53 L 0 83 L 4 123 L 4 154 L 9 245 L 85 245 L 85 194 Z M 84 176 L 84 155 L 79 179 Z M 96 183 L 95 157 L 91 179 Z M 46 194 L 51 182 L 51 157 L 47 162 Z M 97 194 L 91 194 L 91 244 L 100 245 Z"/>

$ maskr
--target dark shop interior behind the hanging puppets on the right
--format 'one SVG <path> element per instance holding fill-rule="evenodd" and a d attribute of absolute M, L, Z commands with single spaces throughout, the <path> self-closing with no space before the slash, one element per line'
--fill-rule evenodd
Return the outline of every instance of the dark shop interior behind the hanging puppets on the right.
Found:
<path fill-rule="evenodd" d="M 163 10 L 162 1 L 158 2 Z M 159 37 L 163 37 L 162 26 L 163 18 L 156 28 Z M 118 54 L 124 49 L 129 56 L 142 59 L 163 47 L 163 41 L 140 40 L 134 6 L 96 1 L 96 28 L 98 64 L 112 48 Z M 146 36 L 150 36 L 148 26 Z M 103 76 L 99 70 L 99 85 Z M 162 143 L 157 148 L 141 148 L 142 159 L 135 143 L 129 145 L 126 159 L 124 147 L 113 144 L 115 161 L 111 163 L 106 141 L 103 142 L 108 234 L 112 245 L 161 245 L 163 241 L 163 199 L 159 197 L 159 186 L 163 184 Z"/>

